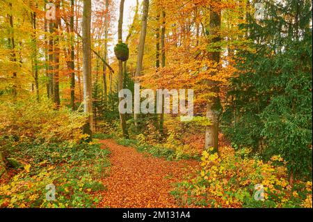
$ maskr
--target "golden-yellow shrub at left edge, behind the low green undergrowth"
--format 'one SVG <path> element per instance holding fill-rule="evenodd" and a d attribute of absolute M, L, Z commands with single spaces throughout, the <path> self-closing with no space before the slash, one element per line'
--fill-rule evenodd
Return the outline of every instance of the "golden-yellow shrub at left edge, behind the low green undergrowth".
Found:
<path fill-rule="evenodd" d="M 65 107 L 55 110 L 49 100 L 42 102 L 3 102 L 0 104 L 0 136 L 39 143 L 56 143 L 84 138 L 81 129 L 86 114 Z"/>

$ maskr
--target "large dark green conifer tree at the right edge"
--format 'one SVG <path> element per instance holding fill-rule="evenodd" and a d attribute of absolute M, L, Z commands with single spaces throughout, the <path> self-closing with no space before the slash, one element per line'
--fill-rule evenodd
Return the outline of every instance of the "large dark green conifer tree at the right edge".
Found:
<path fill-rule="evenodd" d="M 312 2 L 265 1 L 249 15 L 250 49 L 237 55 L 225 132 L 264 157 L 282 154 L 290 183 L 312 177 Z M 288 15 L 288 16 L 286 16 Z"/>

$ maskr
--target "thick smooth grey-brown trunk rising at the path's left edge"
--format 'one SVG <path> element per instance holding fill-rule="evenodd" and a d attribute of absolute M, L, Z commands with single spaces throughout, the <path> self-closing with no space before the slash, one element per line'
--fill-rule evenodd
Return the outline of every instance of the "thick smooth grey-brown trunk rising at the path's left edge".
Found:
<path fill-rule="evenodd" d="M 83 0 L 83 110 L 88 113 L 84 133 L 92 136 L 93 94 L 91 83 L 91 0 Z"/>

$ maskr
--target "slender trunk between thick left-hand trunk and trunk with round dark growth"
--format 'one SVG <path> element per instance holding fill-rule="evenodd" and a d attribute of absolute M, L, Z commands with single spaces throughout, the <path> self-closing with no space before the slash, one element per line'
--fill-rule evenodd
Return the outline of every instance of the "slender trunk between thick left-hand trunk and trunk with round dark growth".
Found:
<path fill-rule="evenodd" d="M 108 37 L 109 37 L 109 0 L 106 0 L 106 17 L 104 21 L 104 60 L 108 61 Z M 108 102 L 108 86 L 106 84 L 106 65 L 103 64 L 103 88 L 104 88 L 104 104 Z"/>

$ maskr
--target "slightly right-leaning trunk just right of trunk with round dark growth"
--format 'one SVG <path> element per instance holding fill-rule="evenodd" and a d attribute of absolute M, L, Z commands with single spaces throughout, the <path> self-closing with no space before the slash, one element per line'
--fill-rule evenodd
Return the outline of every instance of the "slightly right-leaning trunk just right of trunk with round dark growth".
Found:
<path fill-rule="evenodd" d="M 149 0 L 143 0 L 143 19 L 141 23 L 141 37 L 139 39 L 138 45 L 138 57 L 137 57 L 137 65 L 136 65 L 136 73 L 135 73 L 135 82 L 138 84 L 138 77 L 141 76 L 141 72 L 143 70 L 143 54 L 145 51 L 145 36 L 147 34 L 147 17 L 149 13 Z M 135 97 L 136 98 L 136 97 Z M 136 104 L 140 101 L 136 101 L 135 99 L 135 107 Z M 138 111 L 134 112 L 134 120 L 136 129 L 138 128 Z"/>

